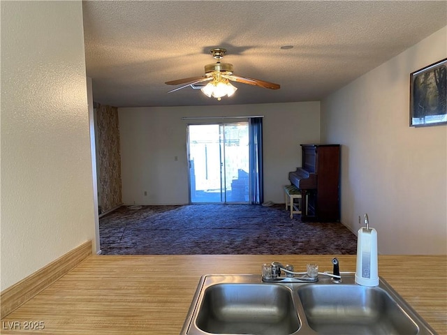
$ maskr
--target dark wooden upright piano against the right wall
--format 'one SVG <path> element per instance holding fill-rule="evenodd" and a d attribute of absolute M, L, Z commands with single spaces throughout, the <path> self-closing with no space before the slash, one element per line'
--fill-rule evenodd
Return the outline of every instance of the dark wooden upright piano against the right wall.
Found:
<path fill-rule="evenodd" d="M 301 144 L 302 167 L 289 172 L 302 193 L 302 221 L 340 220 L 340 145 Z"/>

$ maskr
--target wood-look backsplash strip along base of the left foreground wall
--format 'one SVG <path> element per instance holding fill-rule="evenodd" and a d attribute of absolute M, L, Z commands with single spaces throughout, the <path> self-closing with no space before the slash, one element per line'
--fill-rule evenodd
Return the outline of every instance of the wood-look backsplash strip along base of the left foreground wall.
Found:
<path fill-rule="evenodd" d="M 6 317 L 17 307 L 41 292 L 47 286 L 64 276 L 68 271 L 73 269 L 80 262 L 88 258 L 91 254 L 91 241 L 86 241 L 80 246 L 68 251 L 57 260 L 45 265 L 42 269 L 37 270 L 34 274 L 30 274 L 22 281 L 15 283 L 0 295 L 1 301 L 1 318 Z"/>

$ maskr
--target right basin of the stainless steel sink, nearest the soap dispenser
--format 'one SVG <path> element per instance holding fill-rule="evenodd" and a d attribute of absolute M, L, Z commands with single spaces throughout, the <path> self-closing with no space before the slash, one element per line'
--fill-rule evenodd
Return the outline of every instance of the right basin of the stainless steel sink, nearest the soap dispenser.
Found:
<path fill-rule="evenodd" d="M 298 289 L 307 323 L 318 334 L 416 335 L 418 326 L 383 288 L 305 285 Z"/>

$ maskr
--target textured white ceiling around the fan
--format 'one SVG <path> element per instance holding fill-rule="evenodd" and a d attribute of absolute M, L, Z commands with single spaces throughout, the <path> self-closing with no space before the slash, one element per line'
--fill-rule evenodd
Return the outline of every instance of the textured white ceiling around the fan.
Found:
<path fill-rule="evenodd" d="M 444 27 L 447 1 L 84 1 L 83 15 L 94 101 L 233 105 L 321 100 Z M 235 75 L 281 89 L 168 94 L 164 82 L 204 74 L 212 47 L 228 50 Z"/>

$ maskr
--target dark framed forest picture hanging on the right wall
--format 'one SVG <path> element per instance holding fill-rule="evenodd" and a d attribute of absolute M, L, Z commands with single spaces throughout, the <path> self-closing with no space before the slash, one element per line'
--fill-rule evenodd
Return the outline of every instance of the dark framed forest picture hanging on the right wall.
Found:
<path fill-rule="evenodd" d="M 447 124 L 447 58 L 410 74 L 410 126 Z"/>

